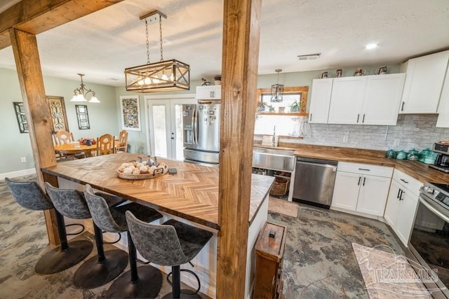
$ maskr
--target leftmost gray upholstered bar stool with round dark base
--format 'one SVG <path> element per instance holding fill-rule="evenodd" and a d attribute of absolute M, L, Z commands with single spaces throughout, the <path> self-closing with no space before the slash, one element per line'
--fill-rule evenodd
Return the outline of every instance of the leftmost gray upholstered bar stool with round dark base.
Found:
<path fill-rule="evenodd" d="M 45 211 L 53 209 L 53 204 L 35 181 L 11 181 L 5 178 L 15 200 L 25 209 Z M 93 249 L 92 242 L 87 240 L 67 242 L 64 218 L 55 210 L 58 236 L 61 245 L 45 253 L 34 266 L 38 274 L 54 274 L 67 270 L 81 262 Z"/>

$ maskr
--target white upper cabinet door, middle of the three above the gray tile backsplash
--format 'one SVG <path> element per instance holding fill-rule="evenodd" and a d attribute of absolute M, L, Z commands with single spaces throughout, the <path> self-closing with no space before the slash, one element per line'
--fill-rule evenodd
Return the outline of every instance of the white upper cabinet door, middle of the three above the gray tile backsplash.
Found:
<path fill-rule="evenodd" d="M 334 78 L 328 123 L 357 124 L 360 120 L 366 77 Z"/>

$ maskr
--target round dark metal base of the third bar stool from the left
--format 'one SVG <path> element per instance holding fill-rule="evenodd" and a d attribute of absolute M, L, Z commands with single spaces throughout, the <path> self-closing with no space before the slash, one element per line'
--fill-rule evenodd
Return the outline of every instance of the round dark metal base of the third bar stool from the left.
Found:
<path fill-rule="evenodd" d="M 121 275 L 105 298 L 156 298 L 162 287 L 162 273 L 152 266 L 138 267 L 138 281 L 131 283 L 131 271 Z"/>

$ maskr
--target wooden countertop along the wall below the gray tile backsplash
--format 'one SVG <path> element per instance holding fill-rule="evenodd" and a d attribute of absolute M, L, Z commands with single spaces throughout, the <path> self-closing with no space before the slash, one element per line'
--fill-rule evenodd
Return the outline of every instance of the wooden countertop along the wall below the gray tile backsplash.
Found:
<path fill-rule="evenodd" d="M 267 147 L 259 144 L 254 144 L 254 146 Z M 279 147 L 277 148 L 294 150 L 295 155 L 305 158 L 390 166 L 408 174 L 409 176 L 412 176 L 414 179 L 417 179 L 422 183 L 431 181 L 434 183 L 449 184 L 449 174 L 432 169 L 427 164 L 422 162 L 384 158 L 385 151 L 288 143 L 279 143 Z"/>

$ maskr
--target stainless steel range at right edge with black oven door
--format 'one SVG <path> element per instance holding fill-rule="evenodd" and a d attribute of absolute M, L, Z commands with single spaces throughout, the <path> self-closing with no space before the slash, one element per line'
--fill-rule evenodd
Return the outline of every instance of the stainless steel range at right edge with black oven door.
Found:
<path fill-rule="evenodd" d="M 449 298 L 449 185 L 424 183 L 408 248 L 434 298 Z M 425 271 L 424 271 L 425 270 Z"/>

